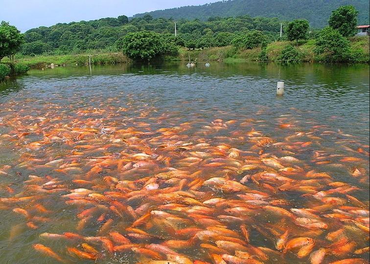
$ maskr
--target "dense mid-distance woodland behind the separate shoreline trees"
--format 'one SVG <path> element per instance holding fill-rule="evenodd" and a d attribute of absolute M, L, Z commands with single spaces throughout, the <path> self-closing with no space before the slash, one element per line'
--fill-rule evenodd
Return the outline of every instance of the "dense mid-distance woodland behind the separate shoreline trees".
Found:
<path fill-rule="evenodd" d="M 271 41 L 279 37 L 280 23 L 277 18 L 209 18 L 208 21 L 180 20 L 177 22 L 178 44 L 190 48 L 230 45 L 239 35 L 258 30 Z M 287 22 L 282 22 L 284 25 Z M 89 49 L 117 51 L 117 41 L 128 33 L 153 31 L 169 38 L 174 34 L 174 21 L 153 19 L 150 15 L 129 20 L 126 16 L 94 21 L 58 23 L 50 27 L 33 28 L 24 33 L 21 53 L 67 54 Z"/>

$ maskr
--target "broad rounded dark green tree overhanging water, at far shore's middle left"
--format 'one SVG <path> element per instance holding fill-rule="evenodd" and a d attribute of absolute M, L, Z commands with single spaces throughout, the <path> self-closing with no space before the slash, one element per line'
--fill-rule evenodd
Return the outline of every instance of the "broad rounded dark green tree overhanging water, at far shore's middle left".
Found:
<path fill-rule="evenodd" d="M 128 33 L 121 39 L 123 53 L 133 59 L 151 60 L 162 54 L 172 54 L 177 48 L 165 44 L 162 36 L 150 31 Z"/>

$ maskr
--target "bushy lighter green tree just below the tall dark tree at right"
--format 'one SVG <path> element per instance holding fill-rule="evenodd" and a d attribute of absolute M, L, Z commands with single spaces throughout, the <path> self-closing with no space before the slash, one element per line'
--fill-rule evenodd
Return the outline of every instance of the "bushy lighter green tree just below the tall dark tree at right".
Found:
<path fill-rule="evenodd" d="M 349 41 L 332 27 L 325 27 L 316 39 L 315 53 L 329 52 L 331 55 L 345 55 L 349 48 Z"/>

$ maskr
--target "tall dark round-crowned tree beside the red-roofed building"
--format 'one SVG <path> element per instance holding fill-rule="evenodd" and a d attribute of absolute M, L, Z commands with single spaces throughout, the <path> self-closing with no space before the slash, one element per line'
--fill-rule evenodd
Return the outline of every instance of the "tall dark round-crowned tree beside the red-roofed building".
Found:
<path fill-rule="evenodd" d="M 358 11 L 352 5 L 344 5 L 334 10 L 329 18 L 329 26 L 337 29 L 344 37 L 354 36 L 357 32 Z"/>

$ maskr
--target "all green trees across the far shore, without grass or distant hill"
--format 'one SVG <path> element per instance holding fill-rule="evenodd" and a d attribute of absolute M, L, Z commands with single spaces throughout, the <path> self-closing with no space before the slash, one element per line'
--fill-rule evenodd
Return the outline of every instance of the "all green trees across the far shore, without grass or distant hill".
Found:
<path fill-rule="evenodd" d="M 179 46 L 203 49 L 232 45 L 237 49 L 260 46 L 260 60 L 268 60 L 266 46 L 277 40 L 295 41 L 316 39 L 315 52 L 338 55 L 349 53 L 348 37 L 356 34 L 358 11 L 351 5 L 334 10 L 323 30 L 310 29 L 307 20 L 281 22 L 277 18 L 212 17 L 177 22 L 178 36 L 174 36 L 174 22 L 153 19 L 150 15 L 129 20 L 126 16 L 94 21 L 59 23 L 39 27 L 21 34 L 9 23 L 0 25 L 0 59 L 17 52 L 24 55 L 48 53 L 52 55 L 81 52 L 88 49 L 123 51 L 133 59 L 151 60 L 161 55 L 176 55 Z M 284 35 L 279 36 L 280 23 Z M 295 47 L 283 50 L 282 59 L 297 58 Z"/>

